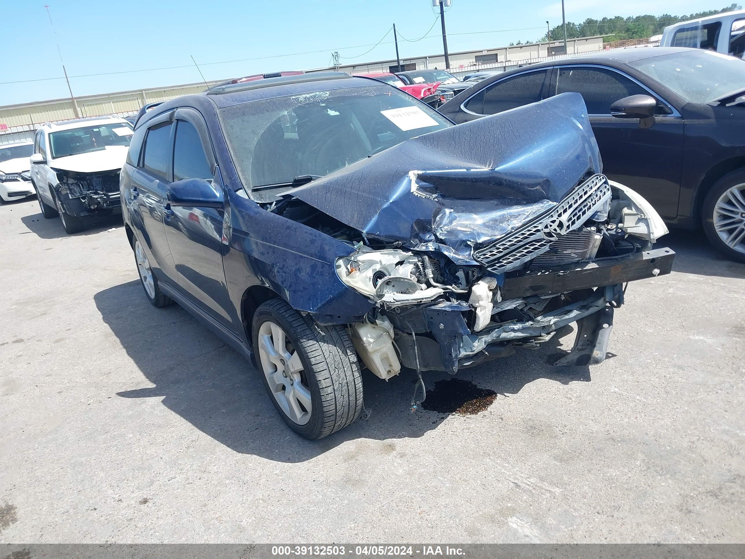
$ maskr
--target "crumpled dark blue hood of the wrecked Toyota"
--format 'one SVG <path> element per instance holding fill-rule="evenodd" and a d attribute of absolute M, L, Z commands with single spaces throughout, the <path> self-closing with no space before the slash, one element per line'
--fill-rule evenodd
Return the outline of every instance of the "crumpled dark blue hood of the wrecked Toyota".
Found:
<path fill-rule="evenodd" d="M 582 96 L 564 93 L 410 139 L 285 195 L 366 236 L 467 265 L 473 247 L 601 171 Z"/>

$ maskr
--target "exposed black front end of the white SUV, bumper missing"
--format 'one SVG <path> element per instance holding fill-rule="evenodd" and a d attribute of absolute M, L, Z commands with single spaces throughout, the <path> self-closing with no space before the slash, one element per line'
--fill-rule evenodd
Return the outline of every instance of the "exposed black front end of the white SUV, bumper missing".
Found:
<path fill-rule="evenodd" d="M 121 212 L 119 171 L 79 172 L 55 169 L 54 193 L 69 215 L 82 217 Z"/>

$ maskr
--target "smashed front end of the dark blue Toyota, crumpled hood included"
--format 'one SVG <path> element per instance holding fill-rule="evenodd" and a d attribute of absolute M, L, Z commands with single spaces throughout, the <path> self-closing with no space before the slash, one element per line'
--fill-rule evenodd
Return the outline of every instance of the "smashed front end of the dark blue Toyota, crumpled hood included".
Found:
<path fill-rule="evenodd" d="M 413 170 L 412 165 L 417 165 Z M 373 306 L 348 324 L 381 379 L 457 373 L 577 322 L 559 365 L 606 359 L 627 282 L 669 274 L 656 211 L 607 180 L 570 93 L 402 142 L 268 206 L 352 247 L 344 285 Z M 420 379 L 421 380 L 421 379 Z"/>

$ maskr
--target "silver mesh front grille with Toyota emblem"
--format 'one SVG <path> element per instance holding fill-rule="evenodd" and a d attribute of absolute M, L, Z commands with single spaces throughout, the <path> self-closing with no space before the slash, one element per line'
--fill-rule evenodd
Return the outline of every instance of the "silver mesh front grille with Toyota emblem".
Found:
<path fill-rule="evenodd" d="M 606 177 L 595 174 L 575 187 L 550 212 L 540 215 L 519 230 L 489 244 L 488 247 L 476 250 L 474 258 L 495 274 L 519 268 L 524 262 L 548 250 L 557 238 L 560 239 L 566 233 L 580 227 L 603 203 L 606 203 L 606 200 L 609 200 L 610 196 L 611 189 Z M 549 221 L 557 222 L 564 235 L 554 238 L 545 236 L 542 230 Z"/>

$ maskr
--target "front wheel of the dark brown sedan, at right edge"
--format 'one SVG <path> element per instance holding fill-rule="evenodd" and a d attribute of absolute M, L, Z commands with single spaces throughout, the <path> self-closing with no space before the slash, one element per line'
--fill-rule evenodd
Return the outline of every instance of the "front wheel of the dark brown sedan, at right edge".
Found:
<path fill-rule="evenodd" d="M 703 203 L 703 228 L 714 248 L 745 262 L 745 169 L 717 180 Z"/>

